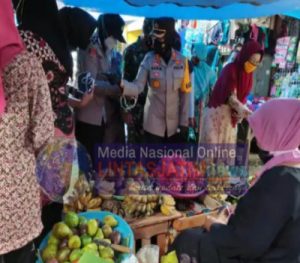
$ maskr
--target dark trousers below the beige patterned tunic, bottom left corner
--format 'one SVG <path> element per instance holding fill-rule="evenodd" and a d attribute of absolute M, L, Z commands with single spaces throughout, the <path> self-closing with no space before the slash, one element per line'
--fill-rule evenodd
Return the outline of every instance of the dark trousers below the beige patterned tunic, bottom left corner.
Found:
<path fill-rule="evenodd" d="M 36 251 L 33 242 L 0 256 L 0 263 L 35 263 Z M 4 261 L 4 262 L 3 262 Z"/>

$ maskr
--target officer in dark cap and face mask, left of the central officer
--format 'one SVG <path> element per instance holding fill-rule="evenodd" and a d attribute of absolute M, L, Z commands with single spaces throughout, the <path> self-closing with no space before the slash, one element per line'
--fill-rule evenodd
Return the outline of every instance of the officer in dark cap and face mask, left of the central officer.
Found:
<path fill-rule="evenodd" d="M 124 25 L 119 15 L 100 15 L 89 46 L 78 54 L 78 73 L 91 72 L 95 79 L 93 100 L 76 111 L 76 138 L 92 156 L 97 144 L 119 143 L 116 138 L 122 135 L 118 133 L 124 133 L 119 106 L 121 77 L 118 81 L 113 78 L 117 75 L 112 74 L 113 61 L 117 59 L 116 45 L 125 43 L 122 36 Z"/>

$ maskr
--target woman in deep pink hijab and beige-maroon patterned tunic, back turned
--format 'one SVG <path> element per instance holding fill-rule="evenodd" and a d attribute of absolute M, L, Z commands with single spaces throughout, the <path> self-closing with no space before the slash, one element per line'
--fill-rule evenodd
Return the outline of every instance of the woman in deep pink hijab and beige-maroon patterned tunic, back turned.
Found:
<path fill-rule="evenodd" d="M 51 100 L 44 71 L 15 27 L 10 0 L 0 1 L 0 24 L 0 261 L 32 263 L 32 241 L 43 228 L 35 161 L 54 135 Z"/>

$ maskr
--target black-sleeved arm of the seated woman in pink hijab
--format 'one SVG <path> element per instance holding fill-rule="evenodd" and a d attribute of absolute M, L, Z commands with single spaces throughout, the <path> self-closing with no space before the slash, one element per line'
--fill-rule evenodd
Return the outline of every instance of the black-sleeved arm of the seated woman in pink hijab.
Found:
<path fill-rule="evenodd" d="M 295 182 L 291 176 L 278 174 L 278 170 L 262 175 L 240 200 L 228 225 L 212 225 L 211 239 L 224 257 L 261 257 L 291 219 Z"/>

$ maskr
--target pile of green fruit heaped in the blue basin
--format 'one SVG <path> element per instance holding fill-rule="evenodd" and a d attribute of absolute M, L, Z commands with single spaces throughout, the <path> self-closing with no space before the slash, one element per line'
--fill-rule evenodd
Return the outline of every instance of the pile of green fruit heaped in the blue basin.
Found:
<path fill-rule="evenodd" d="M 47 246 L 41 252 L 42 260 L 44 263 L 77 263 L 84 252 L 89 252 L 113 263 L 117 253 L 110 244 L 128 246 L 129 242 L 115 230 L 117 226 L 118 221 L 112 215 L 99 222 L 69 212 L 63 222 L 54 225 Z"/>

